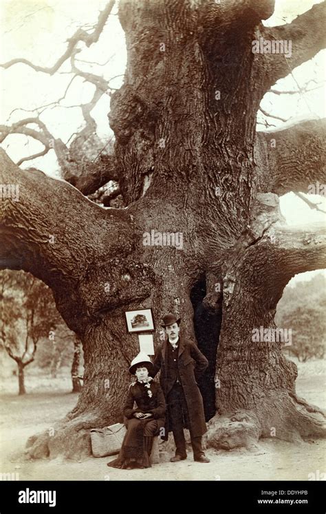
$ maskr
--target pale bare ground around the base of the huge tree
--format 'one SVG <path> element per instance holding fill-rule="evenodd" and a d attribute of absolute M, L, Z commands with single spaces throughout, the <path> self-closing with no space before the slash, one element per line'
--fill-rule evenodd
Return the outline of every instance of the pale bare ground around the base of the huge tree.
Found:
<path fill-rule="evenodd" d="M 325 408 L 325 362 L 297 364 L 298 395 Z M 326 471 L 326 440 L 292 444 L 273 438 L 260 440 L 255 451 L 208 449 L 209 464 L 193 462 L 191 451 L 187 460 L 178 463 L 161 453 L 162 462 L 145 470 L 108 468 L 113 459 L 109 457 L 27 461 L 23 451 L 28 437 L 50 429 L 74 407 L 77 395 L 69 393 L 65 377 L 41 379 L 31 374 L 26 377 L 25 397 L 16 394 L 16 382 L 16 377 L 1 379 L 0 473 L 19 473 L 19 480 L 312 480 L 315 475 L 318 480 Z"/>

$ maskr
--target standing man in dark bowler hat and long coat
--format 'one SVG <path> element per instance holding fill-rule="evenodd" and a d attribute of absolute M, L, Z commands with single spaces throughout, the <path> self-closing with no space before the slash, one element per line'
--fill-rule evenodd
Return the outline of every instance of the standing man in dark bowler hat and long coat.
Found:
<path fill-rule="evenodd" d="M 184 427 L 191 434 L 194 460 L 210 462 L 202 449 L 202 435 L 207 429 L 203 399 L 197 384 L 208 360 L 194 342 L 180 337 L 180 318 L 166 314 L 162 327 L 167 340 L 155 354 L 153 376 L 161 370 L 160 383 L 167 404 L 166 434 L 172 431 L 175 440 L 175 456 L 171 462 L 187 458 Z"/>

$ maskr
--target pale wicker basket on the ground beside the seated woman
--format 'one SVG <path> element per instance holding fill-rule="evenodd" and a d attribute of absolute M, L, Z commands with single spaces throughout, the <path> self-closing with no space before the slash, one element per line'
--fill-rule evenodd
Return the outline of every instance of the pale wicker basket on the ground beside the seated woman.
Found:
<path fill-rule="evenodd" d="M 119 453 L 127 429 L 122 423 L 91 429 L 91 452 L 94 457 L 105 457 Z"/>

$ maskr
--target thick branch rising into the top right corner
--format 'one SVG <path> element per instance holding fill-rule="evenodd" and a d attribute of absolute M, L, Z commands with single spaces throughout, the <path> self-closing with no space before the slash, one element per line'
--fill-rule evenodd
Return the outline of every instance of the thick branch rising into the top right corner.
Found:
<path fill-rule="evenodd" d="M 290 41 L 292 44 L 290 57 L 285 57 L 284 53 L 257 54 L 256 59 L 265 77 L 265 91 L 290 74 L 296 66 L 309 61 L 319 50 L 325 48 L 325 18 L 326 2 L 323 1 L 298 16 L 292 23 L 261 28 L 257 39 L 262 37 L 265 41 Z"/>

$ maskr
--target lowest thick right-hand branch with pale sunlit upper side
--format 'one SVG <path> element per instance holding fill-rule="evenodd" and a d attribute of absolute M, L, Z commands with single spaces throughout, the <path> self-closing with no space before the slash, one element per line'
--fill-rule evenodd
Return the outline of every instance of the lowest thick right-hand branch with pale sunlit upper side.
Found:
<path fill-rule="evenodd" d="M 309 227 L 289 227 L 271 223 L 261 237 L 252 241 L 244 259 L 232 272 L 235 290 L 224 287 L 224 302 L 237 298 L 237 276 L 241 275 L 242 294 L 252 299 L 248 311 L 253 316 L 273 316 L 287 283 L 296 274 L 326 267 L 326 233 L 322 223 Z M 272 320 L 272 317 L 270 318 Z"/>

